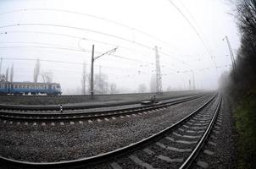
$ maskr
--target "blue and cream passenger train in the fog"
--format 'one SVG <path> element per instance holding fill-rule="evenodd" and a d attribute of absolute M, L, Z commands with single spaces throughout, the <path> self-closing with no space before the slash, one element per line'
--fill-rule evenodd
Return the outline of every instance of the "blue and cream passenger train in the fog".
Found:
<path fill-rule="evenodd" d="M 0 81 L 0 95 L 61 95 L 58 83 Z"/>

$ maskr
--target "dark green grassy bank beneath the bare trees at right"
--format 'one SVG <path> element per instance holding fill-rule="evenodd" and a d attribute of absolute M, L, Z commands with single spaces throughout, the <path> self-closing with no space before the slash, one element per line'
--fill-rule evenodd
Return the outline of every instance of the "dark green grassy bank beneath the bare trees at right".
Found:
<path fill-rule="evenodd" d="M 238 168 L 256 166 L 256 87 L 238 102 L 234 112 L 238 140 Z"/>

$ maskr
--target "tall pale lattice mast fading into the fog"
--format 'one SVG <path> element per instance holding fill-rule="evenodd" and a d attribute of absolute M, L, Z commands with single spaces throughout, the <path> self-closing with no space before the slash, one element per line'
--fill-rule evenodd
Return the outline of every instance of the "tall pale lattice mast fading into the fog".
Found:
<path fill-rule="evenodd" d="M 156 90 L 157 93 L 162 93 L 162 76 L 161 76 L 161 68 L 159 61 L 159 49 L 158 46 L 155 46 L 156 53 Z"/>

